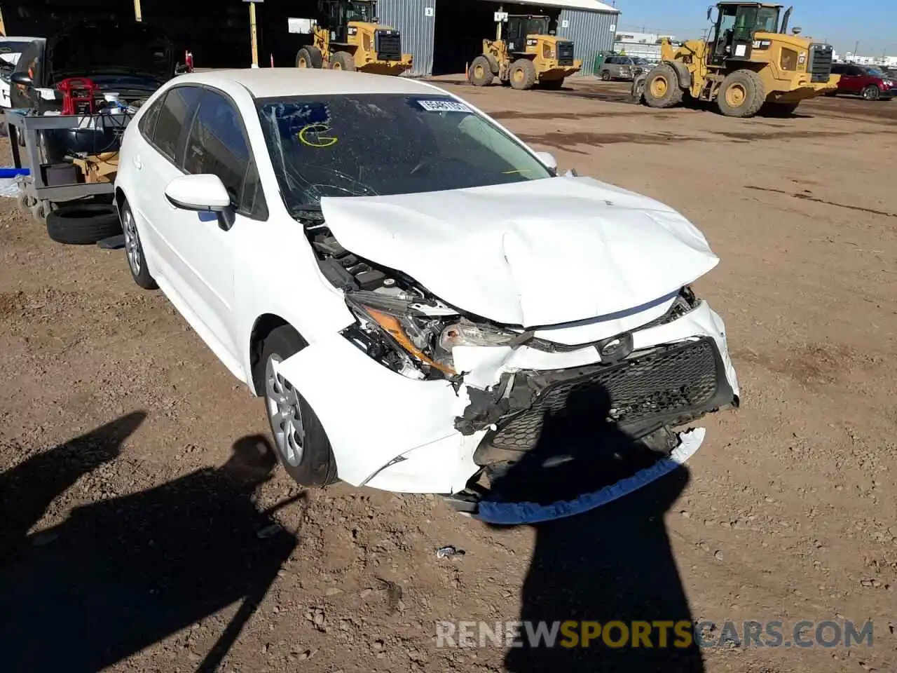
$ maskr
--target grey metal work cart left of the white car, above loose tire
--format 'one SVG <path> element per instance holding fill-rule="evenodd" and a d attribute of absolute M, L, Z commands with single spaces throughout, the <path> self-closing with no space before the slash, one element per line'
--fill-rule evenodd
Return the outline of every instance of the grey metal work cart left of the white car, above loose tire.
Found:
<path fill-rule="evenodd" d="M 16 168 L 27 168 L 30 176 L 23 179 L 24 193 L 20 203 L 30 208 L 37 220 L 45 220 L 53 204 L 77 198 L 112 194 L 112 182 L 75 182 L 70 185 L 48 185 L 43 177 L 41 165 L 48 158 L 41 156 L 40 132 L 65 129 L 113 128 L 124 133 L 133 115 L 125 110 L 115 113 L 92 115 L 35 115 L 27 109 L 5 110 L 9 143 L 13 151 Z M 20 139 L 24 142 L 20 145 Z M 24 152 L 22 152 L 24 150 Z"/>

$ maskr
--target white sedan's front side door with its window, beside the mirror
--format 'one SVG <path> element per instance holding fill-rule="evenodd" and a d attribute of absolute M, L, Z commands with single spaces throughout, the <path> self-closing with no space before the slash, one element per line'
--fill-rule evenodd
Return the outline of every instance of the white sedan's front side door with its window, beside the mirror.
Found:
<path fill-rule="evenodd" d="M 231 195 L 231 223 L 218 214 L 176 210 L 170 243 L 198 318 L 237 357 L 239 335 L 231 313 L 234 264 L 241 252 L 237 239 L 246 228 L 266 220 L 267 209 L 246 128 L 225 93 L 212 88 L 203 92 L 187 133 L 183 170 L 217 175 Z"/>

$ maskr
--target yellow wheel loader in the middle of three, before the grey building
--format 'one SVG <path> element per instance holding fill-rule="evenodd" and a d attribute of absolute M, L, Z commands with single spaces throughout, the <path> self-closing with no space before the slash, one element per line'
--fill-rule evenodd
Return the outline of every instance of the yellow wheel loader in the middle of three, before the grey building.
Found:
<path fill-rule="evenodd" d="M 582 61 L 573 60 L 573 43 L 557 37 L 557 16 L 495 13 L 495 39 L 483 39 L 483 54 L 470 65 L 467 78 L 475 86 L 491 84 L 495 78 L 515 89 L 560 89 L 564 78 L 579 71 Z M 502 38 L 501 26 L 507 22 Z"/>

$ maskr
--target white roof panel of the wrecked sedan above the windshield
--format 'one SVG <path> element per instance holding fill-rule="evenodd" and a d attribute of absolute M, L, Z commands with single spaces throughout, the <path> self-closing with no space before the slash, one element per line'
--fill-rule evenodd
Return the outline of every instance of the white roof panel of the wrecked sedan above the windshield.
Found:
<path fill-rule="evenodd" d="M 255 98 L 343 93 L 446 94 L 438 87 L 407 77 L 311 68 L 208 70 L 203 73 L 182 74 L 177 82 L 209 86 L 236 83 Z"/>

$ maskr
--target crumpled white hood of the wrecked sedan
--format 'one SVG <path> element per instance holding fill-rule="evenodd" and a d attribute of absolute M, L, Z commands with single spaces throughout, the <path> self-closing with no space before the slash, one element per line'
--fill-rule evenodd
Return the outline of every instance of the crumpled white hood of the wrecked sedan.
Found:
<path fill-rule="evenodd" d="M 672 208 L 588 178 L 326 197 L 321 210 L 345 249 L 527 328 L 641 310 L 718 263 Z"/>

